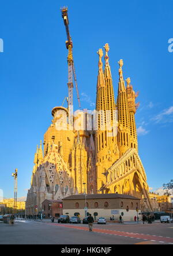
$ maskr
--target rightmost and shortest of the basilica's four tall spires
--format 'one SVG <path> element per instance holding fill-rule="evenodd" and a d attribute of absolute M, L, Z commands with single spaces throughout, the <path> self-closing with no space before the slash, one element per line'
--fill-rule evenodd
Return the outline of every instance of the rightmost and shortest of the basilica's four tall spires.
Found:
<path fill-rule="evenodd" d="M 139 103 L 135 103 L 135 99 L 138 96 L 133 90 L 133 86 L 130 85 L 130 78 L 126 79 L 127 87 L 127 102 L 129 107 L 129 125 L 130 125 L 130 148 L 135 148 L 138 151 L 137 131 L 134 114 L 138 108 Z"/>

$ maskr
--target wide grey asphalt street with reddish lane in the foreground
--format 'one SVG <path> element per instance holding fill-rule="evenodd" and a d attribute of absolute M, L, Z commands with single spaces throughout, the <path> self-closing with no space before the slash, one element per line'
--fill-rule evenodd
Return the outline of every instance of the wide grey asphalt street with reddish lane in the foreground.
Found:
<path fill-rule="evenodd" d="M 173 244 L 173 223 L 58 224 L 16 220 L 0 222 L 0 244 Z"/>

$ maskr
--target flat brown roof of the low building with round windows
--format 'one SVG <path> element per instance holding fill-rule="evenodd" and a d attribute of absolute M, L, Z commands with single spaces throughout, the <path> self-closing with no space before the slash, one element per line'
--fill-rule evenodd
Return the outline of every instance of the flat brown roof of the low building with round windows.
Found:
<path fill-rule="evenodd" d="M 110 198 L 114 198 L 114 199 L 123 198 L 123 199 L 140 200 L 140 198 L 135 198 L 134 196 L 125 195 L 125 194 L 118 194 L 118 193 L 86 195 L 86 199 L 110 199 Z M 80 200 L 80 199 L 85 199 L 85 195 L 80 194 L 80 195 L 67 196 L 66 198 L 63 198 L 62 200 Z"/>

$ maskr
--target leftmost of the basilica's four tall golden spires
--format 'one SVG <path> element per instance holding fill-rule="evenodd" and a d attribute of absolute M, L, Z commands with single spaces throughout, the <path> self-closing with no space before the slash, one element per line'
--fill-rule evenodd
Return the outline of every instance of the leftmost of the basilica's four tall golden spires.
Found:
<path fill-rule="evenodd" d="M 107 91 L 103 74 L 103 50 L 99 49 L 99 73 L 97 76 L 96 96 L 96 169 L 97 169 L 97 190 L 106 183 L 107 175 Z"/>

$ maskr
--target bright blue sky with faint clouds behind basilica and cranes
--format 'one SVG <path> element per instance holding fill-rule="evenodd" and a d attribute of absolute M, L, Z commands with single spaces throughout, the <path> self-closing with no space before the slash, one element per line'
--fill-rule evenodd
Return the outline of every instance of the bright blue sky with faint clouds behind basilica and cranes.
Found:
<path fill-rule="evenodd" d="M 83 108 L 96 98 L 97 50 L 110 45 L 115 95 L 118 61 L 139 91 L 139 154 L 153 189 L 172 179 L 172 1 L 1 0 L 0 189 L 13 197 L 30 187 L 36 144 L 51 123 L 51 109 L 67 96 L 66 32 L 60 8 L 68 6 L 74 63 Z M 77 100 L 74 95 L 74 107 Z"/>

